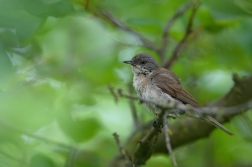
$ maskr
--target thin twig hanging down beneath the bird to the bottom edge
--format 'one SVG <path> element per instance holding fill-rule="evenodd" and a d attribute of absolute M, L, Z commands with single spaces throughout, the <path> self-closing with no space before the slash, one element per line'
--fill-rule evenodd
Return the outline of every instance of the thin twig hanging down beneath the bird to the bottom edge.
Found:
<path fill-rule="evenodd" d="M 170 142 L 169 128 L 168 128 L 168 122 L 167 122 L 167 113 L 164 114 L 163 120 L 164 120 L 163 123 L 164 123 L 164 135 L 165 135 L 166 148 L 172 159 L 173 166 L 177 166 L 176 158 L 175 158 L 175 155 L 173 154 L 171 142 Z"/>

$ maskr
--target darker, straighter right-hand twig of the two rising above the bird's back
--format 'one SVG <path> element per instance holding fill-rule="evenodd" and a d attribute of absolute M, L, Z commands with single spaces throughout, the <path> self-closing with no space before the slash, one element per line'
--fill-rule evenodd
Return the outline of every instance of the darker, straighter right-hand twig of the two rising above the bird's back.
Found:
<path fill-rule="evenodd" d="M 170 69 L 172 64 L 178 59 L 179 53 L 184 48 L 188 36 L 192 33 L 193 18 L 195 16 L 195 13 L 196 13 L 196 10 L 198 9 L 199 4 L 200 4 L 200 2 L 196 2 L 194 4 L 193 9 L 192 9 L 192 13 L 189 18 L 189 22 L 186 27 L 185 34 L 184 34 L 183 38 L 179 41 L 179 43 L 176 45 L 176 47 L 174 48 L 171 58 L 164 65 L 165 68 Z"/>

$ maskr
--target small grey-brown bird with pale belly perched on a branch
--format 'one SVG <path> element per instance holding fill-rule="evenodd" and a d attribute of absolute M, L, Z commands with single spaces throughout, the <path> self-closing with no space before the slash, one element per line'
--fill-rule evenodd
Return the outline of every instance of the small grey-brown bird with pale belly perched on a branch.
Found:
<path fill-rule="evenodd" d="M 123 63 L 132 66 L 133 86 L 150 111 L 159 112 L 159 108 L 155 104 L 165 104 L 168 101 L 176 101 L 184 105 L 191 105 L 200 108 L 198 102 L 190 95 L 182 86 L 179 77 L 172 71 L 158 66 L 156 60 L 147 53 L 139 53 L 131 60 Z M 151 102 L 148 102 L 151 101 Z M 154 102 L 154 103 L 153 103 Z M 195 114 L 189 112 L 187 115 L 194 118 L 204 120 L 226 132 L 233 135 L 221 123 L 209 115 Z"/>

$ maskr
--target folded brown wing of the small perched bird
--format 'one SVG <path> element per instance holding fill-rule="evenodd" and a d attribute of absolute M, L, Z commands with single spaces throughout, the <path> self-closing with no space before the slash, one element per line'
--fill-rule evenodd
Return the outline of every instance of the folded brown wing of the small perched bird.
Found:
<path fill-rule="evenodd" d="M 197 101 L 185 91 L 179 78 L 171 71 L 160 68 L 151 75 L 151 79 L 163 92 L 169 94 L 173 98 L 180 100 L 184 104 L 199 107 Z"/>

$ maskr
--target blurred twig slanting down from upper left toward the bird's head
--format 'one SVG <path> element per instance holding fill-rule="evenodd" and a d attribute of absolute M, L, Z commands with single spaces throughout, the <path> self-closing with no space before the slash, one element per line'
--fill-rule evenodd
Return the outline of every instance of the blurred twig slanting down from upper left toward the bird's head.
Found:
<path fill-rule="evenodd" d="M 131 28 L 129 28 L 128 26 L 126 26 L 125 24 L 120 22 L 112 13 L 110 13 L 102 8 L 98 8 L 98 10 L 100 11 L 101 15 L 103 17 L 105 17 L 107 20 L 109 20 L 112 24 L 114 24 L 114 26 L 116 26 L 124 31 L 127 31 L 127 32 L 133 34 L 134 36 L 136 36 L 137 38 L 139 38 L 139 40 L 143 43 L 143 45 L 146 48 L 149 48 L 149 49 L 154 50 L 156 52 L 158 51 L 158 48 L 151 41 L 149 41 L 147 38 L 145 38 L 144 36 L 139 34 L 137 31 L 132 30 Z"/>

